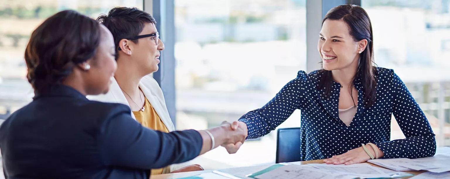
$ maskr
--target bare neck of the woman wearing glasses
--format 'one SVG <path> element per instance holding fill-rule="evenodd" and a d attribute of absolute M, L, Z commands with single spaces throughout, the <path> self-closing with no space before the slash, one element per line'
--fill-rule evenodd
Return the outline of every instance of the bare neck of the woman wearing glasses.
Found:
<path fill-rule="evenodd" d="M 130 96 L 137 96 L 139 94 L 139 81 L 142 75 L 139 74 L 135 67 L 130 66 L 130 64 L 124 63 L 129 61 L 128 59 L 117 60 L 117 70 L 114 73 L 114 78 L 119 84 L 120 88 L 124 90 Z"/>

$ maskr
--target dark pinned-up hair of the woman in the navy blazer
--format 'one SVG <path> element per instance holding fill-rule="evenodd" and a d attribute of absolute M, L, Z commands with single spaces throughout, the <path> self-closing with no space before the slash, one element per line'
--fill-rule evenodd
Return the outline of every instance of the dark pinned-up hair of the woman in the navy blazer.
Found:
<path fill-rule="evenodd" d="M 62 82 L 72 69 L 93 58 L 100 43 L 100 24 L 73 10 L 47 18 L 31 34 L 25 49 L 28 82 L 42 93 Z"/>

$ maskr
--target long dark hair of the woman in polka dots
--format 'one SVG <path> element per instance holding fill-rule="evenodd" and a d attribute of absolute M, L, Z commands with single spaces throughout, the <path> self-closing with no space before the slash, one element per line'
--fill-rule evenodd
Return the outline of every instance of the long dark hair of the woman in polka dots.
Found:
<path fill-rule="evenodd" d="M 322 25 L 327 19 L 344 21 L 349 27 L 350 35 L 356 42 L 362 39 L 367 40 L 367 47 L 360 54 L 358 68 L 352 81 L 354 83 L 357 79 L 361 80 L 365 107 L 374 105 L 377 86 L 377 68 L 373 65 L 372 60 L 374 57 L 374 37 L 369 15 L 360 6 L 346 4 L 331 9 L 325 15 Z M 331 86 L 333 85 L 332 73 L 325 69 L 321 69 L 319 73 L 321 74 L 321 79 L 316 89 L 324 89 L 324 97 L 328 98 L 331 93 Z M 351 83 L 351 89 L 354 86 L 353 83 Z"/>

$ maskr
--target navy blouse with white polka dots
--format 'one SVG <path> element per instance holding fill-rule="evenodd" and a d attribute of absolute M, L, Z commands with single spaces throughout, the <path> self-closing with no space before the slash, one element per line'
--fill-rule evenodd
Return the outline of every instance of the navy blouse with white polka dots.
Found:
<path fill-rule="evenodd" d="M 324 91 L 315 89 L 319 79 L 318 71 L 310 74 L 300 71 L 264 107 L 243 115 L 239 120 L 247 124 L 247 139 L 268 134 L 299 109 L 302 160 L 331 158 L 369 142 L 384 152 L 383 158 L 435 154 L 436 139 L 428 119 L 392 69 L 378 68 L 376 102 L 368 108 L 364 107 L 363 86 L 359 80 L 355 81 L 358 109 L 348 127 L 338 114 L 340 84 L 333 82 L 331 96 L 322 98 Z M 390 141 L 392 114 L 405 139 Z"/>

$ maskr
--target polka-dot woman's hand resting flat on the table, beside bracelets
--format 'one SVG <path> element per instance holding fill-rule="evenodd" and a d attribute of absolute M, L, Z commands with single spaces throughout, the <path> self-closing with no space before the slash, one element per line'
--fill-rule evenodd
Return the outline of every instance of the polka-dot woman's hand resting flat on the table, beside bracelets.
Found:
<path fill-rule="evenodd" d="M 371 147 L 366 147 L 369 149 L 370 153 L 374 154 L 374 150 Z M 334 164 L 334 165 L 340 165 L 340 164 L 354 164 L 354 163 L 362 163 L 366 162 L 370 159 L 370 156 L 364 151 L 363 147 L 358 147 L 356 149 L 351 149 L 346 153 L 343 153 L 341 155 L 334 155 L 332 158 L 327 158 L 324 160 L 327 164 Z"/>

